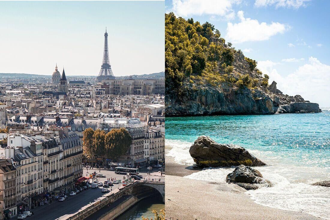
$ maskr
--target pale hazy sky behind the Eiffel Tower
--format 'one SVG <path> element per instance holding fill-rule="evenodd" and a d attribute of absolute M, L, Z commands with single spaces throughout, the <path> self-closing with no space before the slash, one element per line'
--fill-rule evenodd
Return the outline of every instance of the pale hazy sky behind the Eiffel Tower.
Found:
<path fill-rule="evenodd" d="M 115 76 L 164 71 L 164 1 L 0 2 L 0 73 L 98 75 L 107 26 Z"/>

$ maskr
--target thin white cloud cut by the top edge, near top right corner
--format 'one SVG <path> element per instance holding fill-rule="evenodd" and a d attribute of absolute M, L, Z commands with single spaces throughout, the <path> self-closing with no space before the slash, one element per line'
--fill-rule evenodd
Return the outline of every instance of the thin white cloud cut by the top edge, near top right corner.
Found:
<path fill-rule="evenodd" d="M 298 9 L 300 7 L 305 7 L 306 2 L 310 0 L 256 0 L 254 5 L 256 7 L 266 7 L 270 5 L 275 5 L 276 8 L 294 8 Z"/>

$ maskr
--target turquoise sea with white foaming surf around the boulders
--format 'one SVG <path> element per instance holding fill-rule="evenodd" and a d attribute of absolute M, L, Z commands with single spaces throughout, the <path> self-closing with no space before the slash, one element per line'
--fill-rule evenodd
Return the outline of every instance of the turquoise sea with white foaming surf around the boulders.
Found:
<path fill-rule="evenodd" d="M 330 189 L 311 186 L 330 179 L 330 111 L 313 114 L 166 118 L 167 156 L 194 164 L 191 144 L 200 135 L 245 147 L 268 166 L 258 167 L 275 187 L 249 191 L 255 202 L 329 219 Z M 232 168 L 205 169 L 187 178 L 224 182 Z"/>

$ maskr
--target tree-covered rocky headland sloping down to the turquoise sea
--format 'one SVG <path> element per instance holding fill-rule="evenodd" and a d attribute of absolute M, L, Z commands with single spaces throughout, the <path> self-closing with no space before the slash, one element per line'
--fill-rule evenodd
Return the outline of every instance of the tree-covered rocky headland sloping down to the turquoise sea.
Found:
<path fill-rule="evenodd" d="M 209 22 L 165 15 L 166 116 L 320 112 L 276 82 Z"/>

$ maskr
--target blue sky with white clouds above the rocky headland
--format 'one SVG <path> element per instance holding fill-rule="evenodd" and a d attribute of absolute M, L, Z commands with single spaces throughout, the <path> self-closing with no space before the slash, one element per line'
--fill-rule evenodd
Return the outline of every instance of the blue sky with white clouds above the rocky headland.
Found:
<path fill-rule="evenodd" d="M 165 0 L 165 7 L 214 24 L 283 93 L 330 106 L 330 1 Z"/>

